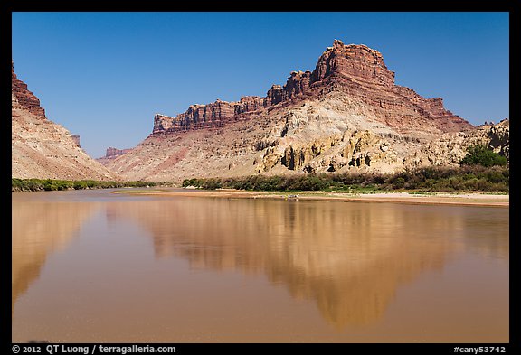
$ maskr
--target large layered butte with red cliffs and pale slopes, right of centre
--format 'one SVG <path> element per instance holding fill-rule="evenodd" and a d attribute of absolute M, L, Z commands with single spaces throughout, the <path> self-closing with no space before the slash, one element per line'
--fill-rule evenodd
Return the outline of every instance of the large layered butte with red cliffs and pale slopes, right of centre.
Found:
<path fill-rule="evenodd" d="M 273 85 L 265 97 L 193 105 L 176 117 L 156 115 L 152 134 L 108 166 L 128 179 L 154 181 L 392 173 L 432 163 L 424 156 L 431 154 L 429 145 L 434 149 L 435 141 L 475 135 L 477 129 L 445 109 L 441 98 L 395 85 L 379 51 L 335 40 L 315 70 L 291 72 L 284 86 Z M 457 156 L 434 159 L 456 163 Z"/>

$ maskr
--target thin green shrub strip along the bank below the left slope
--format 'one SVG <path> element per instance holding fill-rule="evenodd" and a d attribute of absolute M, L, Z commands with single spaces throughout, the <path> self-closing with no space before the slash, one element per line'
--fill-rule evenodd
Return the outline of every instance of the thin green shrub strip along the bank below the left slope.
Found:
<path fill-rule="evenodd" d="M 154 186 L 154 182 L 101 182 L 96 180 L 11 179 L 12 192 L 112 189 Z"/>

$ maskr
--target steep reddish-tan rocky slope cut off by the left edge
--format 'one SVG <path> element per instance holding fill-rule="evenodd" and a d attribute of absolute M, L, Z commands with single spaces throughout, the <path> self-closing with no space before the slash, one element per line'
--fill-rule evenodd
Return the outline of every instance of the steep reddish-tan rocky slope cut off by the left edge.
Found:
<path fill-rule="evenodd" d="M 80 136 L 45 117 L 27 85 L 12 76 L 11 175 L 14 178 L 62 180 L 118 180 L 115 173 L 94 161 L 80 146 Z"/>

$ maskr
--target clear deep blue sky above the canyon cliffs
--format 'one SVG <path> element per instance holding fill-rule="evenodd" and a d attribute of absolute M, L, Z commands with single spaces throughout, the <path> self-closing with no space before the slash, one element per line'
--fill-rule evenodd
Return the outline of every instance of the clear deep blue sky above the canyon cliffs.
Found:
<path fill-rule="evenodd" d="M 509 117 L 508 13 L 13 13 L 14 70 L 88 154 L 136 146 L 156 113 L 264 96 L 334 39 L 474 125 Z"/>

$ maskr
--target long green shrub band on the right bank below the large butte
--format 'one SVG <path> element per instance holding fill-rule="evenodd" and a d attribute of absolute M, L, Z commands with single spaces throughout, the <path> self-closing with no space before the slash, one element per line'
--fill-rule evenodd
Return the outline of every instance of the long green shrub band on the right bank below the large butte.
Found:
<path fill-rule="evenodd" d="M 183 186 L 205 190 L 346 191 L 346 192 L 501 192 L 508 193 L 506 166 L 463 164 L 425 167 L 400 173 L 320 173 L 239 178 L 186 179 Z"/>

